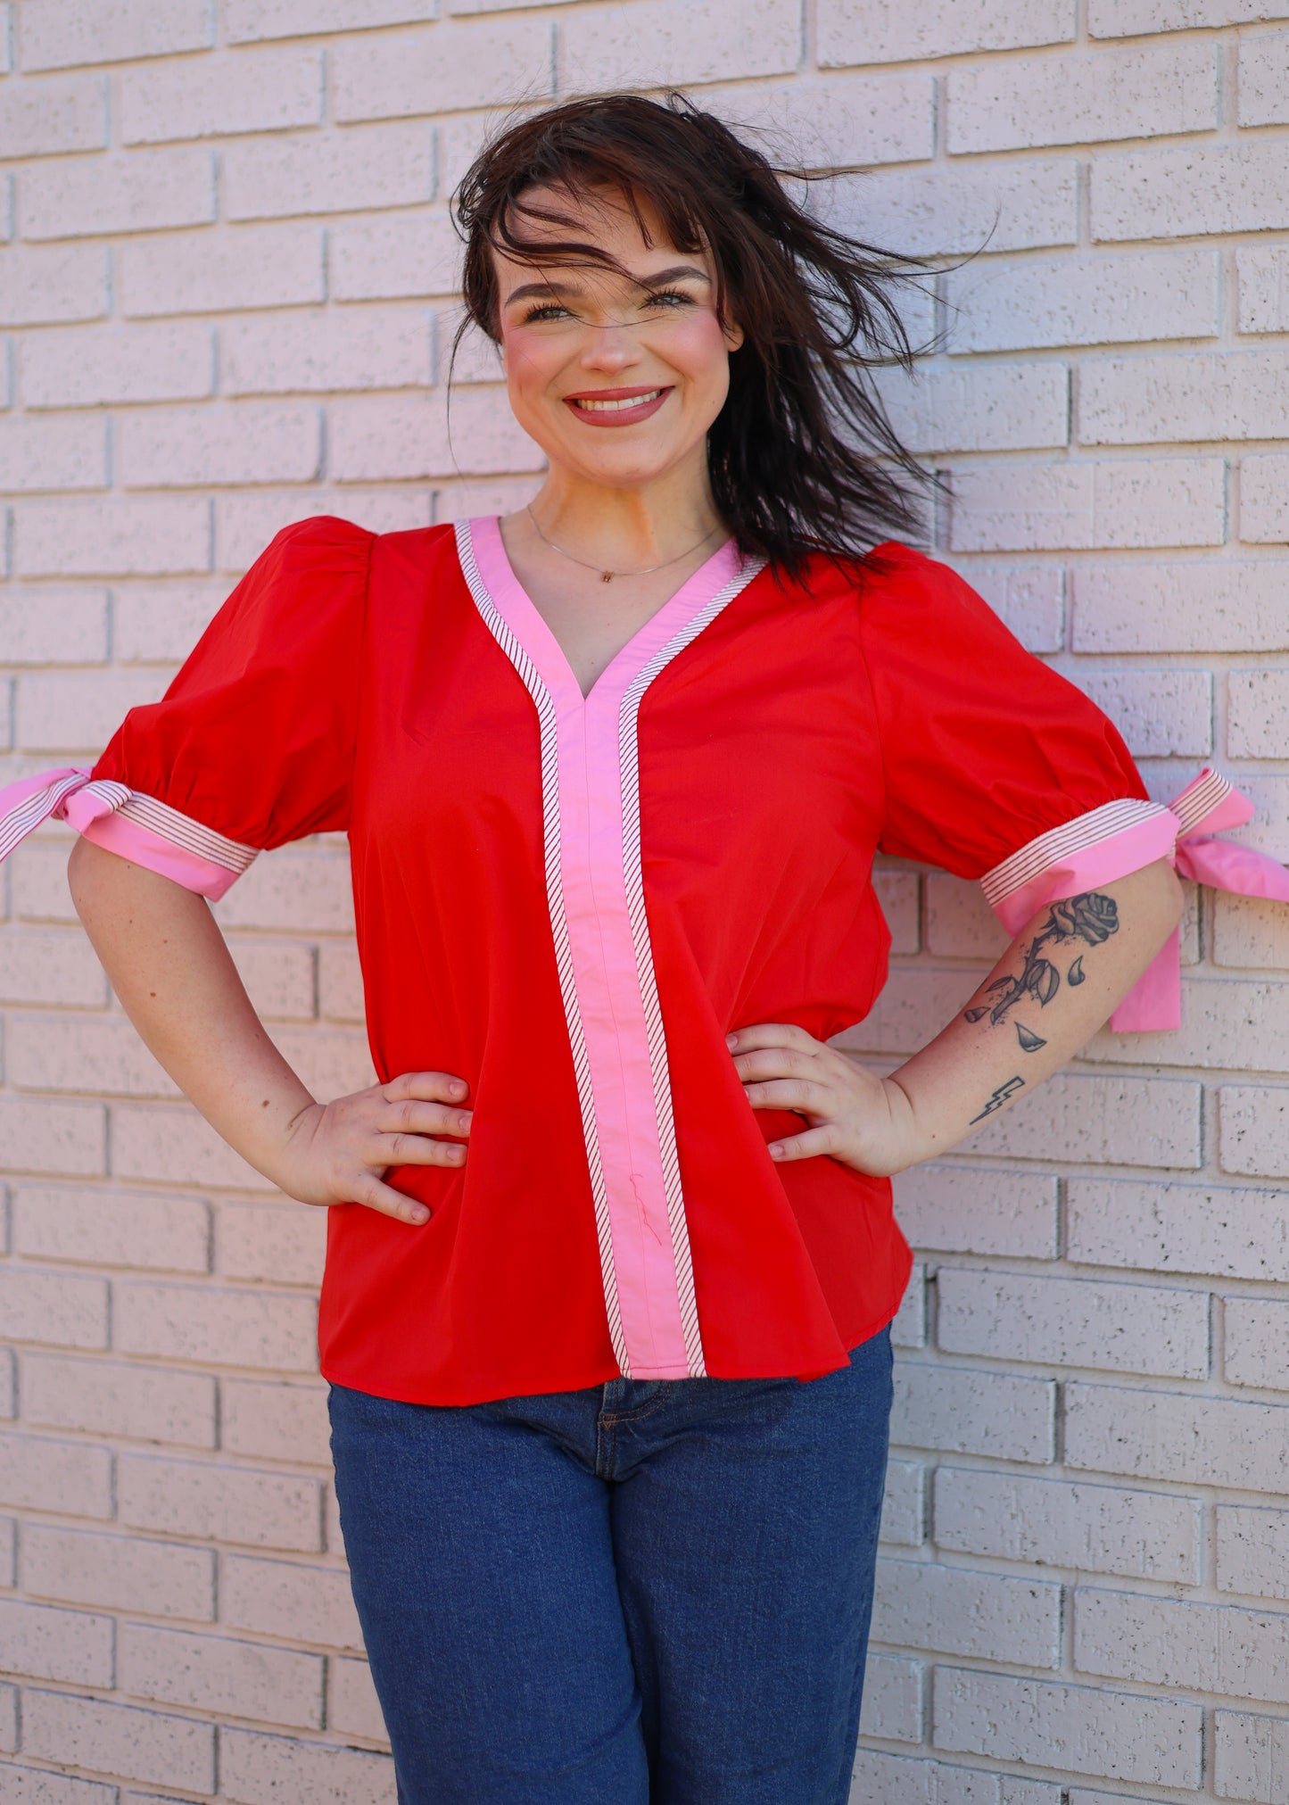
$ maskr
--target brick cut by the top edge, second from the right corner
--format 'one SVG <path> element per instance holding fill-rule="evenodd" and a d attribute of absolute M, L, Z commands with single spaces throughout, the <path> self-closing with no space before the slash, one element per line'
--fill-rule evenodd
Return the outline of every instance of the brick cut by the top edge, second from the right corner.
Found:
<path fill-rule="evenodd" d="M 1074 36 L 1072 0 L 932 0 L 913 11 L 865 0 L 820 0 L 820 63 L 903 63 L 959 51 L 1016 51 Z"/>

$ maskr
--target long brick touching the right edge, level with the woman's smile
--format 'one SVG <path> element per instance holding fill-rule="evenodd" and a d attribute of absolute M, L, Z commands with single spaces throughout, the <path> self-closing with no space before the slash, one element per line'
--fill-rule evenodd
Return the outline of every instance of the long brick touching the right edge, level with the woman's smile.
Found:
<path fill-rule="evenodd" d="M 1098 357 L 1080 375 L 1085 444 L 1273 439 L 1284 426 L 1289 352 Z"/>

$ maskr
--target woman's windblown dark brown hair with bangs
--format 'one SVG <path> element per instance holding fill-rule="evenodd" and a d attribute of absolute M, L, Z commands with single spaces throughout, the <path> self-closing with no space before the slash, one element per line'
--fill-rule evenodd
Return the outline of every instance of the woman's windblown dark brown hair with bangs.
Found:
<path fill-rule="evenodd" d="M 901 285 L 926 265 L 812 218 L 767 157 L 681 94 L 567 101 L 505 126 L 457 191 L 466 240 L 466 318 L 500 338 L 493 251 L 527 264 L 619 269 L 576 236 L 524 236 L 524 220 L 576 231 L 525 199 L 534 186 L 608 190 L 641 217 L 648 199 L 681 251 L 708 249 L 717 310 L 744 343 L 708 433 L 715 504 L 744 552 L 793 572 L 811 551 L 863 556 L 881 538 L 919 538 L 928 473 L 899 442 L 872 386 L 874 365 L 912 366 Z"/>

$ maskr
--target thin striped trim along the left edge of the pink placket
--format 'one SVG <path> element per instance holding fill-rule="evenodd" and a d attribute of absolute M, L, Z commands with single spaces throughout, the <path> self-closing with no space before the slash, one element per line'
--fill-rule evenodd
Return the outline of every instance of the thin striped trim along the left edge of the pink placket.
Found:
<path fill-rule="evenodd" d="M 572 1069 L 578 1079 L 578 1103 L 581 1108 L 581 1132 L 587 1143 L 587 1166 L 590 1171 L 590 1195 L 596 1204 L 596 1240 L 599 1244 L 599 1273 L 605 1287 L 605 1309 L 608 1312 L 608 1338 L 614 1357 L 625 1379 L 632 1368 L 626 1357 L 626 1338 L 623 1334 L 623 1316 L 617 1303 L 617 1273 L 614 1269 L 614 1236 L 608 1217 L 608 1191 L 605 1188 L 605 1170 L 599 1157 L 599 1132 L 596 1128 L 596 1099 L 590 1088 L 590 1063 L 587 1060 L 587 1040 L 581 1031 L 581 1013 L 578 1009 L 578 989 L 572 975 L 572 948 L 569 946 L 569 922 L 563 912 L 563 886 L 560 872 L 560 745 L 556 736 L 556 717 L 551 691 L 518 643 L 507 623 L 498 614 L 487 587 L 475 563 L 475 549 L 469 540 L 469 522 L 457 522 L 457 556 L 469 587 L 469 594 L 478 608 L 484 625 L 496 644 L 511 661 L 524 680 L 524 688 L 533 697 L 542 729 L 542 838 L 545 856 L 545 893 L 551 912 L 551 931 L 554 935 L 554 962 L 560 973 L 560 995 L 563 1014 L 569 1023 L 569 1045 L 572 1049 Z"/>

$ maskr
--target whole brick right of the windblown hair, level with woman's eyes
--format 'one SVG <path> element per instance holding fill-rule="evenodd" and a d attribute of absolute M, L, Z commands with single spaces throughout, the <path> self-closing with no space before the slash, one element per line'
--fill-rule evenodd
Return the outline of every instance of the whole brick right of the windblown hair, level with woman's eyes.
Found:
<path fill-rule="evenodd" d="M 1219 273 L 1215 251 L 1103 251 L 950 271 L 950 348 L 1213 338 Z"/>

